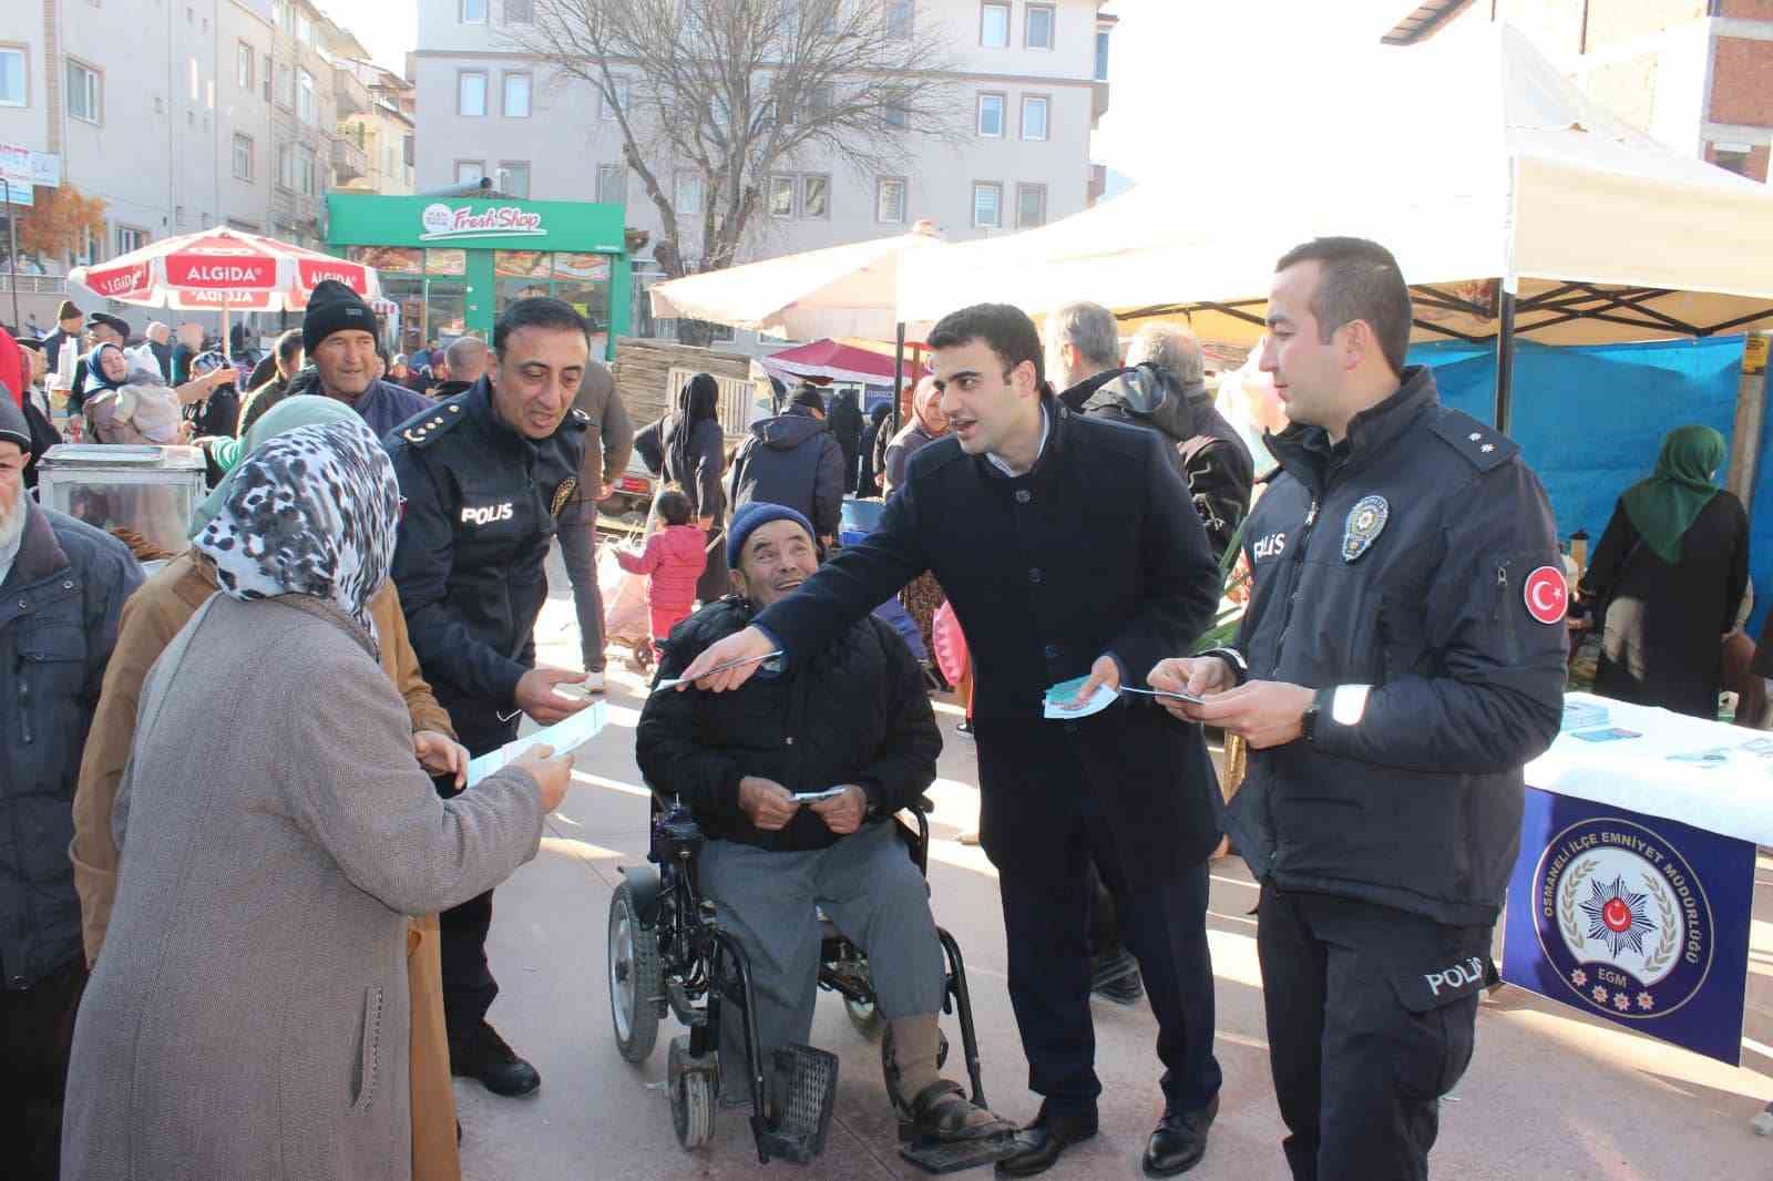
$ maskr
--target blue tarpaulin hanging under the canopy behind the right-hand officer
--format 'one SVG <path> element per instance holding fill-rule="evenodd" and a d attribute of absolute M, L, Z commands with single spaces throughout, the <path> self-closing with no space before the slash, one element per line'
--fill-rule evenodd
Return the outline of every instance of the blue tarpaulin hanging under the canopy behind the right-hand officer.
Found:
<path fill-rule="evenodd" d="M 1418 344 L 1411 364 L 1434 367 L 1441 401 L 1495 420 L 1496 356 L 1489 346 Z M 1619 493 L 1656 466 L 1663 434 L 1702 422 L 1730 438 L 1743 337 L 1553 348 L 1514 346 L 1514 429 L 1544 482 L 1558 539 L 1601 541 Z M 1773 456 L 1762 431 L 1761 479 L 1748 505 L 1755 612 L 1750 635 L 1773 605 Z M 1720 473 L 1718 482 L 1723 482 Z"/>

